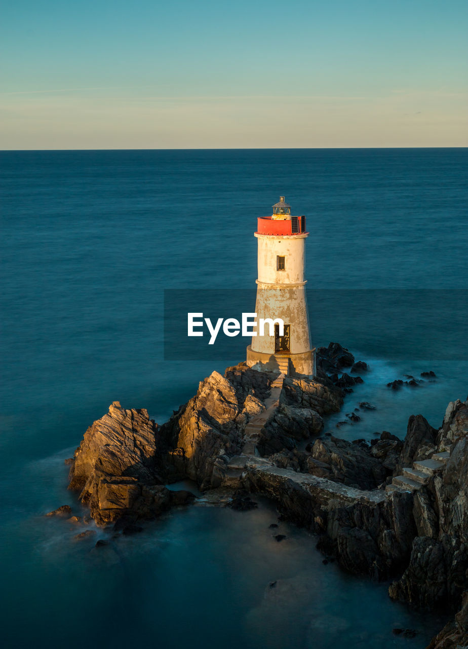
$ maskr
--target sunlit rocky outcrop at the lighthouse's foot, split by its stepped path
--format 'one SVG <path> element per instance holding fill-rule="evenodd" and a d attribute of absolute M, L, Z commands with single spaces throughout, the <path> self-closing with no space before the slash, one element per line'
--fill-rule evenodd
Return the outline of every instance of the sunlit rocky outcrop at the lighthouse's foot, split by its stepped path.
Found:
<path fill-rule="evenodd" d="M 266 411 L 276 378 L 240 364 L 201 382 L 196 395 L 161 426 L 161 435 L 174 447 L 169 461 L 176 471 L 196 480 L 202 490 L 220 486 L 229 460 L 244 447 L 248 422 Z M 258 431 L 260 454 L 291 450 L 299 440 L 317 435 L 322 415 L 339 410 L 342 401 L 342 392 L 332 385 L 285 378 L 278 407 L 271 417 L 267 413 Z"/>

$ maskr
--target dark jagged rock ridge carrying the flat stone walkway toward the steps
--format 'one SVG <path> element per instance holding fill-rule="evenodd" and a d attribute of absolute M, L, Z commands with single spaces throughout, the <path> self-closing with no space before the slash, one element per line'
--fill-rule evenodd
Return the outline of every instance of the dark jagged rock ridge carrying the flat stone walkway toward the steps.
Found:
<path fill-rule="evenodd" d="M 320 548 L 348 572 L 384 579 L 408 562 L 415 535 L 409 493 L 364 491 L 254 459 L 244 484 L 273 498 L 287 519 L 320 534 Z"/>

